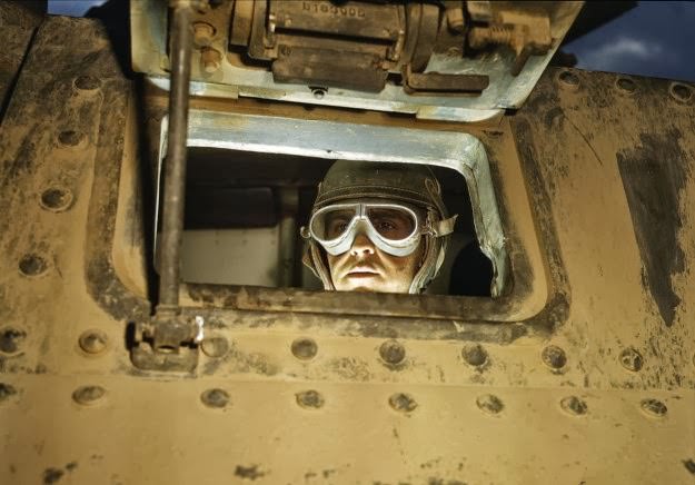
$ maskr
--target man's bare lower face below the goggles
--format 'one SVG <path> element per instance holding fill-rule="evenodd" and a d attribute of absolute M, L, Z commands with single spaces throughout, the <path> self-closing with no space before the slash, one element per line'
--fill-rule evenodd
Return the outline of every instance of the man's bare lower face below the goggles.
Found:
<path fill-rule="evenodd" d="M 424 251 L 424 242 L 410 255 L 391 256 L 358 234 L 353 247 L 338 256 L 327 255 L 330 277 L 338 291 L 408 293 Z"/>

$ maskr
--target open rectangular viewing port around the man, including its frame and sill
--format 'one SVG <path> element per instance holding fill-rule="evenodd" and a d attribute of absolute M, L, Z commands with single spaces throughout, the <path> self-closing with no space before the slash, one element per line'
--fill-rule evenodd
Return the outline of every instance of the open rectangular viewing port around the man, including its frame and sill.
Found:
<path fill-rule="evenodd" d="M 473 135 L 191 110 L 188 146 L 181 275 L 193 299 L 205 291 L 237 309 L 505 321 L 530 293 L 526 279 L 510 284 L 487 155 Z M 322 291 L 301 264 L 299 229 L 336 160 L 420 164 L 435 172 L 459 218 L 424 295 Z"/>

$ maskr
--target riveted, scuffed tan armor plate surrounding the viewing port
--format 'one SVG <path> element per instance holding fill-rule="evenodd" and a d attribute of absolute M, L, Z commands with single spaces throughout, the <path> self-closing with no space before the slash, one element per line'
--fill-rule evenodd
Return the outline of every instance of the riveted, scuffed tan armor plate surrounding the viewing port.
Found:
<path fill-rule="evenodd" d="M 49 17 L 27 42 L 0 128 L 0 483 L 695 479 L 693 85 L 548 68 L 475 125 L 192 97 L 229 119 L 475 137 L 509 286 L 186 284 L 197 366 L 145 370 L 130 329 L 151 313 L 167 92 L 137 89 L 95 20 Z"/>

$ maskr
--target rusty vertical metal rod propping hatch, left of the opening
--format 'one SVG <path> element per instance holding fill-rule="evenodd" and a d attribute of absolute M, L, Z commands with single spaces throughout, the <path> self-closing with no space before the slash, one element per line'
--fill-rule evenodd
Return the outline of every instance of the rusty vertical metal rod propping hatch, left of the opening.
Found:
<path fill-rule="evenodd" d="M 188 138 L 188 90 L 192 44 L 189 1 L 172 1 L 170 30 L 171 90 L 169 132 L 165 161 L 159 309 L 178 309 L 183 197 L 186 191 L 186 146 Z"/>

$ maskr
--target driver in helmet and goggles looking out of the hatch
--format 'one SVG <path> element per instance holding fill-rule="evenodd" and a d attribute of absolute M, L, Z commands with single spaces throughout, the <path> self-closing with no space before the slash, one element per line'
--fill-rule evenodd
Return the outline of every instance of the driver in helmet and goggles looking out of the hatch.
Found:
<path fill-rule="evenodd" d="M 304 263 L 327 290 L 419 294 L 457 216 L 425 165 L 338 160 L 319 184 Z"/>

